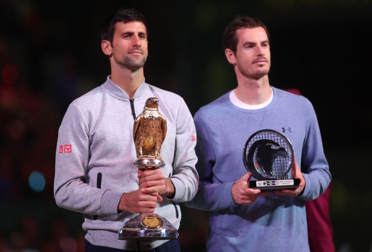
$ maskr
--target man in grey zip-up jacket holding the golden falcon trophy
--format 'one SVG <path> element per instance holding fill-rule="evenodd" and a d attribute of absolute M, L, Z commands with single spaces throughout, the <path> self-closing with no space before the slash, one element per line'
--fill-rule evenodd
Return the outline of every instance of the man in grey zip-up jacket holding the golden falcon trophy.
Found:
<path fill-rule="evenodd" d="M 143 212 L 155 212 L 179 228 L 179 202 L 190 201 L 198 183 L 192 116 L 180 96 L 145 82 L 147 29 L 141 13 L 130 8 L 116 11 L 104 22 L 101 37 L 111 75 L 73 101 L 63 117 L 56 202 L 84 213 L 85 251 L 180 251 L 178 239 L 137 244 L 118 238 L 124 223 Z M 161 149 L 165 166 L 139 171 L 133 164 L 133 122 L 148 98 L 158 99 L 158 110 L 167 119 Z"/>

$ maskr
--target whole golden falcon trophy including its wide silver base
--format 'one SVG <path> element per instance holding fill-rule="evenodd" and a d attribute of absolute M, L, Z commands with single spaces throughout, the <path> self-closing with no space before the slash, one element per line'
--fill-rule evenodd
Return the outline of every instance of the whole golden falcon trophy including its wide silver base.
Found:
<path fill-rule="evenodd" d="M 158 110 L 157 98 L 147 99 L 143 112 L 134 120 L 133 140 L 141 170 L 165 166 L 160 149 L 167 134 L 167 120 Z M 170 240 L 178 238 L 177 229 L 156 213 L 140 213 L 119 231 L 120 240 Z"/>

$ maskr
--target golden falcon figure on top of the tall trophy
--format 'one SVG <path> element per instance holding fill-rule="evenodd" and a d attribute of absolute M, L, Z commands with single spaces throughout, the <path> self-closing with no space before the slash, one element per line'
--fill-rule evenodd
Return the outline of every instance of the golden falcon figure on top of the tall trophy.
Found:
<path fill-rule="evenodd" d="M 158 110 L 159 100 L 155 97 L 147 99 L 143 112 L 134 120 L 133 140 L 137 158 L 155 157 L 167 134 L 167 120 Z"/>

